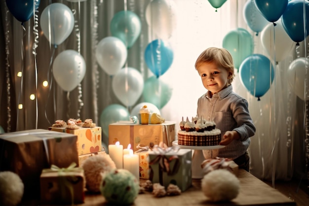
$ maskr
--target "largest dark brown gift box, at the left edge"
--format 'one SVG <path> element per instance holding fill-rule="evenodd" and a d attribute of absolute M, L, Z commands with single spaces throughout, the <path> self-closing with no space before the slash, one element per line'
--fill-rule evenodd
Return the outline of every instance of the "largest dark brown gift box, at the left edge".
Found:
<path fill-rule="evenodd" d="M 24 199 L 39 198 L 39 176 L 50 165 L 78 165 L 77 136 L 34 129 L 0 135 L 0 171 L 12 171 L 22 179 Z"/>

